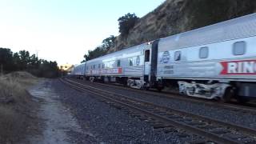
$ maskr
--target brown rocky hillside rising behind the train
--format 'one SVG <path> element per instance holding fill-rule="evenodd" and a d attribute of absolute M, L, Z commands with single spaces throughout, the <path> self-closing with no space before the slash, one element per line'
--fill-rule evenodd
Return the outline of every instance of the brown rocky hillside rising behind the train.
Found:
<path fill-rule="evenodd" d="M 256 12 L 255 0 L 166 0 L 118 36 L 109 52 Z"/>

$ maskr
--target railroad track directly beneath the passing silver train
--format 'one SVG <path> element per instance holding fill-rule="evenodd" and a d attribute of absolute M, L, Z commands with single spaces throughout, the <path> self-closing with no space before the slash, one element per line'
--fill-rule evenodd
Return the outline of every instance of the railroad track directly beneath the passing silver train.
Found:
<path fill-rule="evenodd" d="M 243 106 L 240 104 L 233 104 L 233 103 L 222 103 L 222 102 L 215 102 L 213 100 L 206 100 L 206 99 L 202 99 L 202 98 L 191 98 L 188 97 L 186 95 L 180 95 L 177 93 L 165 93 L 165 92 L 156 92 L 155 90 L 137 90 L 137 89 L 132 89 L 130 87 L 123 87 L 123 86 L 119 86 L 119 85 L 115 85 L 115 84 L 105 84 L 105 83 L 96 83 L 97 85 L 101 85 L 101 86 L 111 86 L 111 87 L 115 87 L 115 88 L 119 88 L 119 89 L 123 89 L 123 90 L 131 90 L 134 92 L 138 92 L 141 94 L 150 94 L 150 95 L 154 95 L 156 97 L 161 97 L 161 98 L 173 98 L 173 99 L 178 99 L 178 100 L 182 100 L 185 102 L 193 102 L 193 103 L 198 103 L 198 104 L 202 104 L 202 102 L 204 103 L 204 105 L 206 106 L 213 106 L 213 107 L 223 107 L 224 109 L 227 110 L 233 110 L 236 112 L 241 112 L 241 113 L 252 113 L 252 114 L 256 114 L 256 107 L 254 106 Z"/>

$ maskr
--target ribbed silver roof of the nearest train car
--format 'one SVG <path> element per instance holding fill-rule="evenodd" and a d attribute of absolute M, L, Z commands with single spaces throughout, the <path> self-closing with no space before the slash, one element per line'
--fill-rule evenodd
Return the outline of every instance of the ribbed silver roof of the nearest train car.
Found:
<path fill-rule="evenodd" d="M 162 50 L 176 50 L 255 35 L 256 13 L 161 38 L 159 47 Z"/>

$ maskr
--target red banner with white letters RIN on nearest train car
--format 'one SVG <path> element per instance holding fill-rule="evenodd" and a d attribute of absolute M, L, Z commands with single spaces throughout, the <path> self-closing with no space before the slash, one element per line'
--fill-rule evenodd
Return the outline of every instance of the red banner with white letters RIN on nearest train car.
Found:
<path fill-rule="evenodd" d="M 221 74 L 256 74 L 256 60 L 220 62 Z"/>

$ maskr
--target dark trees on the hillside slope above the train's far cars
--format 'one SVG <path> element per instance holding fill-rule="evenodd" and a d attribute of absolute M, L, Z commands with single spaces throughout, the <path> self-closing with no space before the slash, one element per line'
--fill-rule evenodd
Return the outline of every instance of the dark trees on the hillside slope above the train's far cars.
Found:
<path fill-rule="evenodd" d="M 118 18 L 118 24 L 119 24 L 119 32 L 122 36 L 122 38 L 126 38 L 126 36 L 129 34 L 130 29 L 132 29 L 135 25 L 135 23 L 138 21 L 138 17 L 136 14 L 126 14 L 120 18 Z M 84 55 L 85 61 L 89 61 L 90 59 L 101 57 L 102 55 L 107 54 L 107 52 L 110 50 L 111 47 L 114 47 L 114 35 L 110 35 L 109 38 L 105 38 L 102 41 L 101 46 L 97 46 L 94 50 L 88 50 L 87 54 Z"/>

